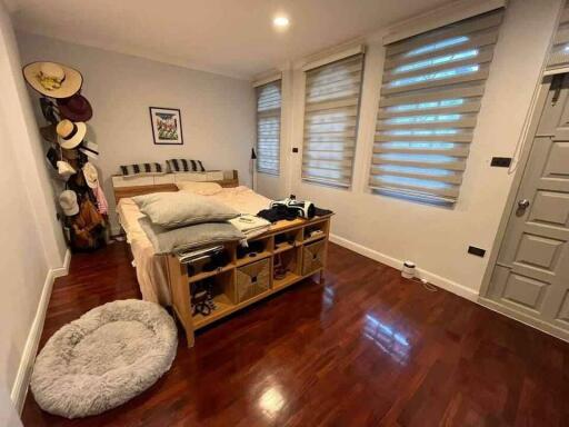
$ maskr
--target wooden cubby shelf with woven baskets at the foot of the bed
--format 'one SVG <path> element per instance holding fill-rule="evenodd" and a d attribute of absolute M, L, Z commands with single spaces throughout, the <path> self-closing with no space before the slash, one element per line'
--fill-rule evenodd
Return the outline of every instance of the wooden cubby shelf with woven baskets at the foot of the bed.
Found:
<path fill-rule="evenodd" d="M 257 245 L 254 256 L 238 256 L 238 245 L 224 245 L 229 264 L 214 271 L 190 275 L 176 255 L 168 256 L 168 275 L 172 308 L 180 320 L 188 347 L 193 347 L 193 332 L 253 302 L 287 288 L 326 267 L 331 215 L 311 220 L 279 221 L 263 235 L 250 240 Z M 274 269 L 280 275 L 274 278 Z M 192 316 L 190 286 L 200 280 L 213 280 L 217 309 L 209 316 Z"/>

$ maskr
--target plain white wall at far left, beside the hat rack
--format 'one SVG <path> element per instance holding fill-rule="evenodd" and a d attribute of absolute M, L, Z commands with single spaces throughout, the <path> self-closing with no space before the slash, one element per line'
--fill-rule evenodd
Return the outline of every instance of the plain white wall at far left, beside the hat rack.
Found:
<path fill-rule="evenodd" d="M 0 0 L 0 388 L 11 389 L 50 269 L 66 245 L 9 16 Z"/>

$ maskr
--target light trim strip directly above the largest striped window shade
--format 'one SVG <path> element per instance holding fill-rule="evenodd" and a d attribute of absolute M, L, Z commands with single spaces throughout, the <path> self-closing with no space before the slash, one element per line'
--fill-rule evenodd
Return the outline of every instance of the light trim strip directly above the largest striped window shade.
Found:
<path fill-rule="evenodd" d="M 449 23 L 461 21 L 477 14 L 486 13 L 499 8 L 505 8 L 507 0 L 459 0 L 442 6 L 427 13 L 419 14 L 389 26 L 383 37 L 383 44 L 395 43 L 445 27 Z"/>

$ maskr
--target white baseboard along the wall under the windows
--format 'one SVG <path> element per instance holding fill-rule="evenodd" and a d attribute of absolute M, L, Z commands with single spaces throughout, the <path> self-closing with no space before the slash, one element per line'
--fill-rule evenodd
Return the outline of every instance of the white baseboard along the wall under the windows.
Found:
<path fill-rule="evenodd" d="M 333 244 L 340 245 L 347 249 L 353 250 L 355 252 L 363 255 L 365 257 L 371 258 L 378 262 L 385 264 L 389 267 L 397 268 L 398 270 L 401 270 L 401 268 L 403 266 L 402 259 L 397 259 L 397 258 L 390 257 L 388 255 L 378 252 L 377 250 L 370 249 L 360 244 L 356 244 L 355 241 L 345 239 L 343 237 L 330 234 L 330 241 L 332 241 Z M 423 270 L 422 268 L 418 268 L 417 272 L 418 272 L 419 278 L 427 279 L 429 281 L 429 284 L 432 284 L 439 288 L 448 290 L 449 292 L 456 294 L 459 297 L 466 298 L 470 301 L 476 302 L 478 300 L 478 292 L 475 291 L 473 289 L 470 289 L 460 284 L 457 284 L 456 281 L 446 279 L 446 278 L 443 278 L 439 275 L 436 275 L 433 272 Z"/>

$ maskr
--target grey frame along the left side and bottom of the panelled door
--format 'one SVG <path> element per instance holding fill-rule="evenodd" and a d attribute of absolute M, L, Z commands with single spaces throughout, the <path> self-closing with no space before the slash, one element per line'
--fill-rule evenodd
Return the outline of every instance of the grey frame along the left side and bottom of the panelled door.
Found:
<path fill-rule="evenodd" d="M 512 209 L 518 199 L 518 193 L 520 191 L 521 180 L 523 175 L 526 173 L 526 168 L 528 166 L 529 157 L 531 153 L 531 149 L 533 148 L 533 141 L 536 137 L 536 132 L 539 126 L 539 121 L 541 119 L 541 115 L 543 112 L 543 108 L 546 107 L 547 97 L 549 90 L 551 88 L 551 81 L 553 80 L 555 75 L 543 76 L 539 86 L 537 88 L 537 98 L 533 106 L 530 107 L 530 125 L 528 127 L 528 132 L 523 138 L 523 146 L 519 153 L 519 160 L 517 165 L 516 172 L 513 175 L 513 180 L 510 186 L 510 190 L 508 193 L 508 198 L 506 200 L 506 206 L 503 208 L 502 217 L 500 219 L 500 224 L 498 226 L 498 231 L 496 232 L 496 238 L 492 244 L 492 248 L 490 250 L 490 256 L 488 259 L 488 266 L 486 268 L 482 286 L 480 287 L 480 294 L 478 296 L 478 304 L 497 311 L 501 315 L 513 318 L 522 324 L 535 327 L 543 332 L 552 335 L 557 338 L 569 341 L 569 332 L 550 325 L 546 321 L 535 319 L 532 317 L 527 316 L 526 314 L 516 310 L 511 307 L 505 307 L 499 302 L 496 302 L 489 298 L 487 298 L 488 290 L 490 289 L 490 280 L 492 278 L 493 270 L 496 268 L 496 264 L 498 261 L 498 255 L 500 252 L 503 238 L 506 236 L 506 231 L 508 228 L 508 224 L 511 217 Z"/>

